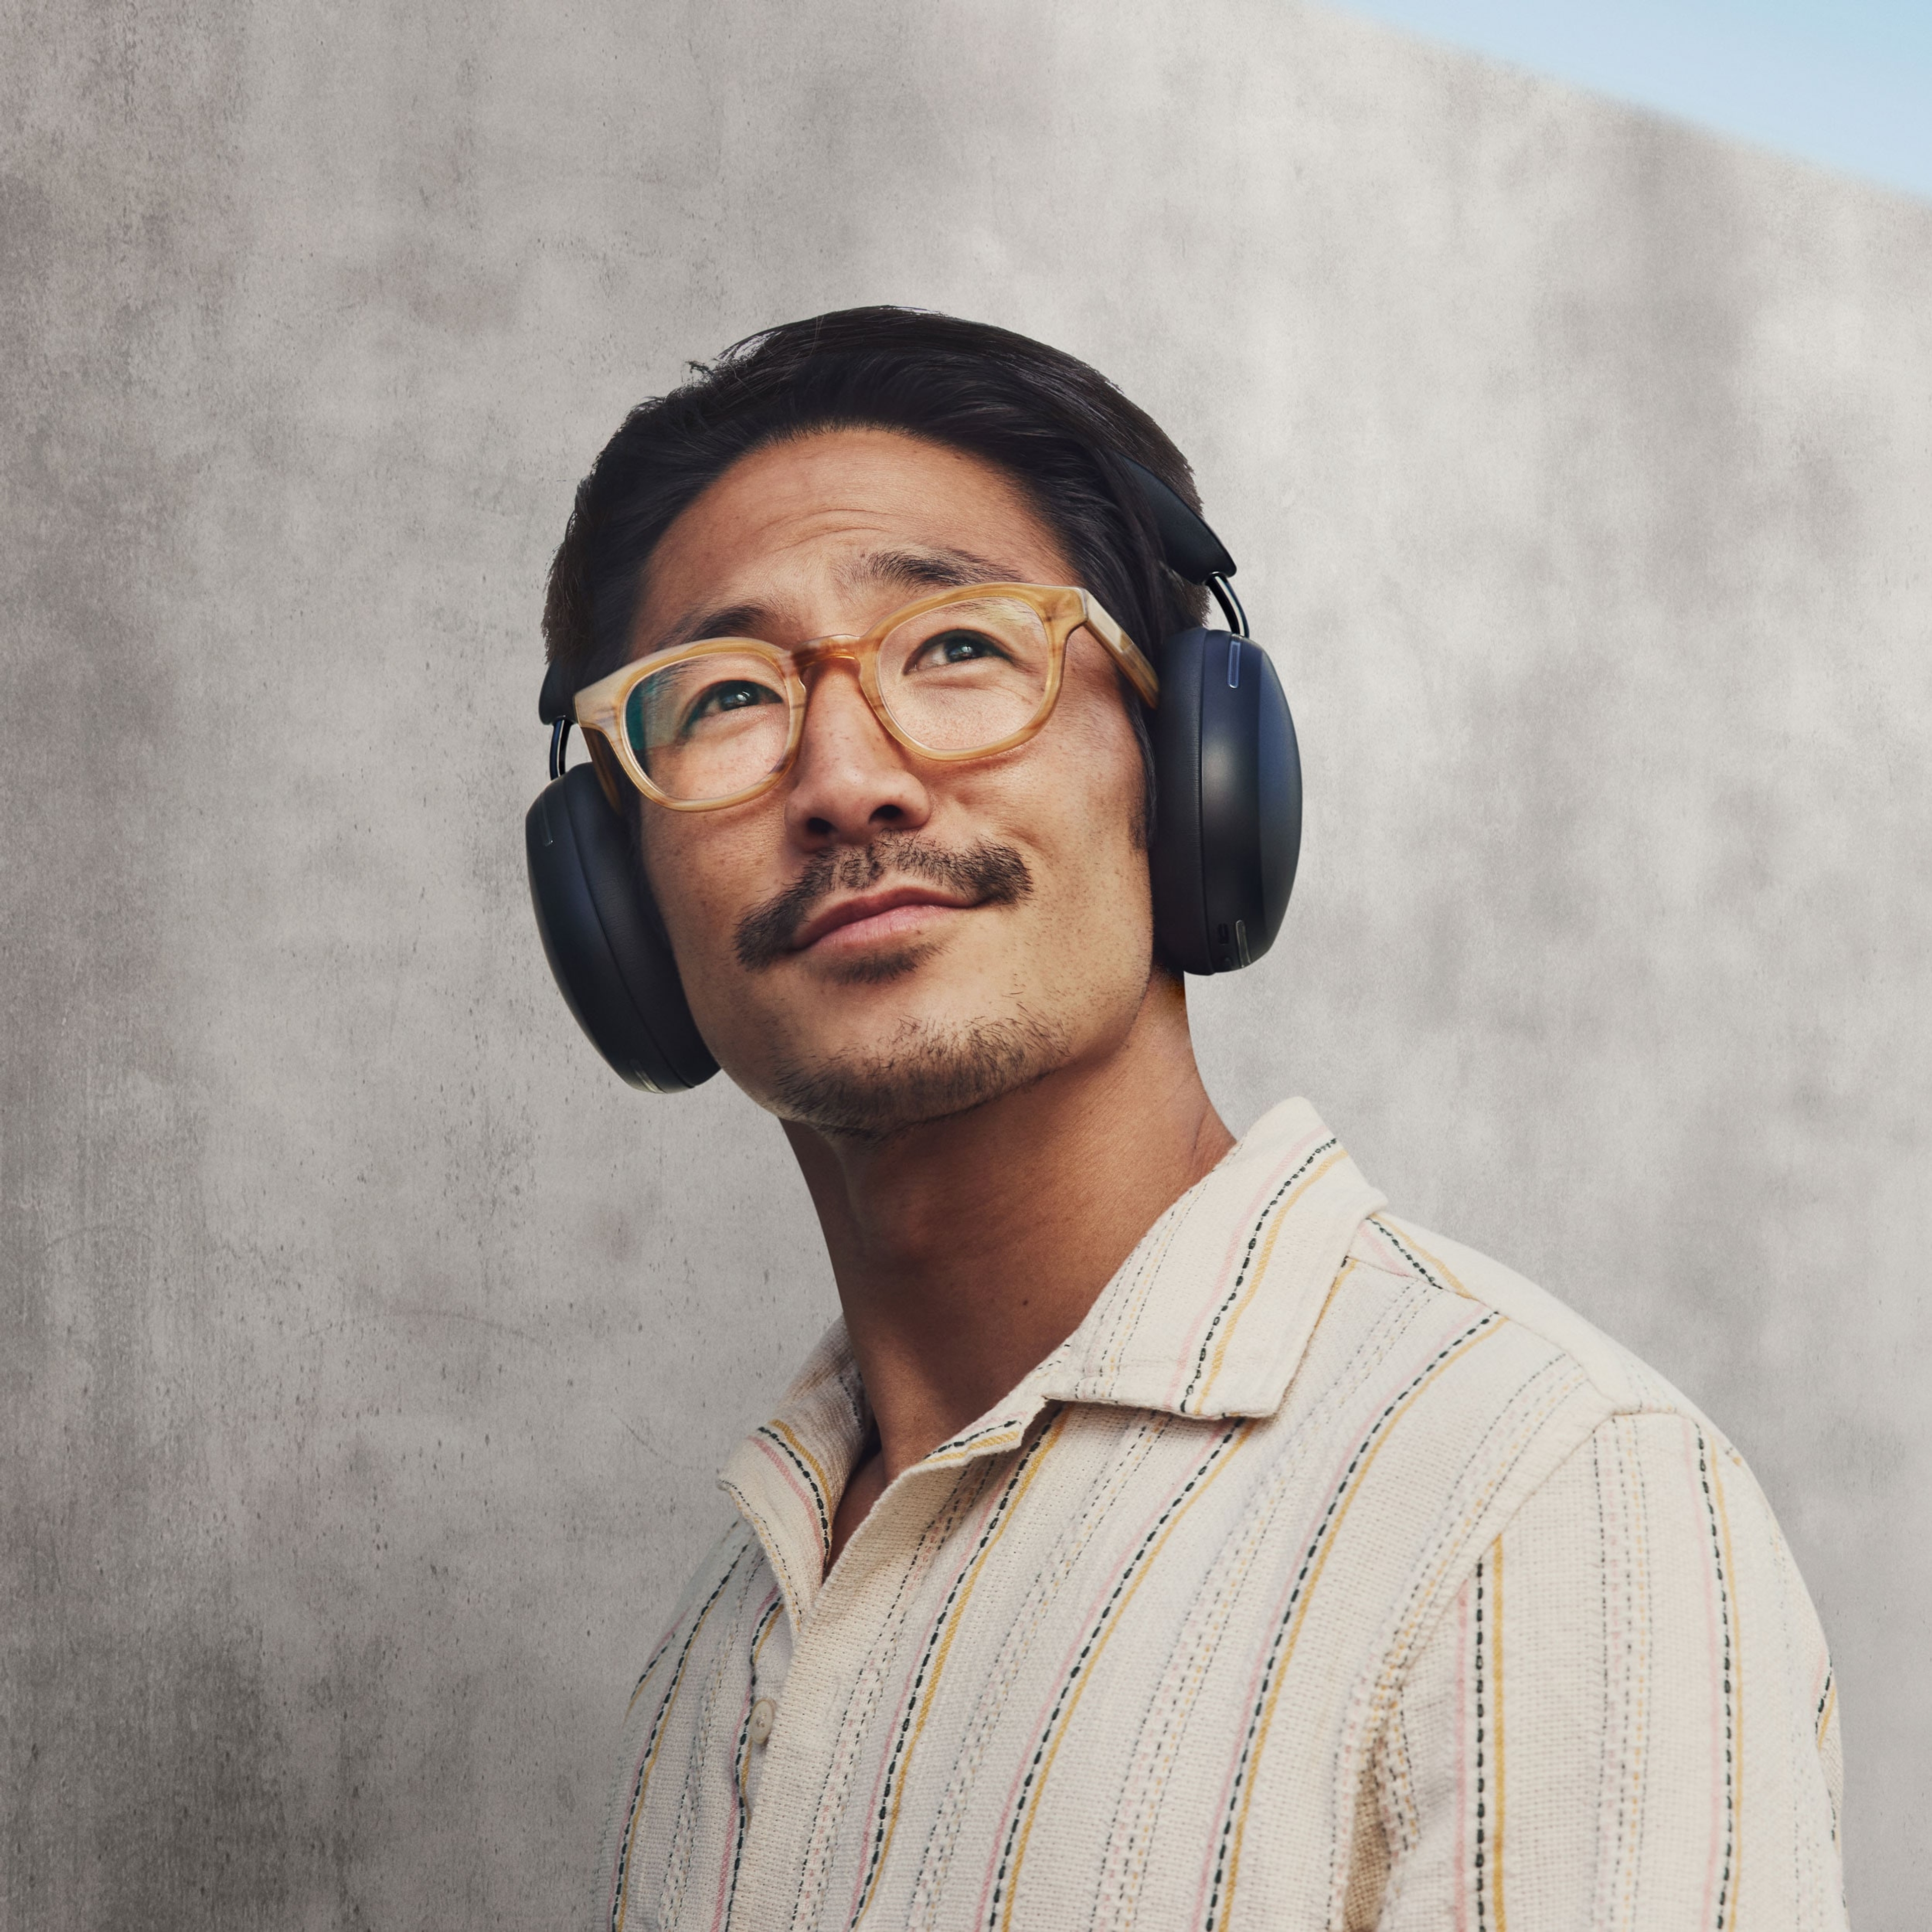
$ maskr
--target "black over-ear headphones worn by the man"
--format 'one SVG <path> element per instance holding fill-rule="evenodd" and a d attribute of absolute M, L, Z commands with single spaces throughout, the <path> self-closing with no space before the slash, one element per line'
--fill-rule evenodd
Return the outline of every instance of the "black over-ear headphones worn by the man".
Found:
<path fill-rule="evenodd" d="M 1229 578 L 1235 558 L 1151 469 L 1121 458 L 1138 485 L 1169 570 L 1206 583 L 1229 630 L 1182 630 L 1157 657 L 1151 719 L 1153 929 L 1182 972 L 1236 972 L 1281 931 L 1302 842 L 1294 721 Z M 539 711 L 551 726 L 551 782 L 524 819 L 529 896 L 543 952 L 591 1045 L 632 1086 L 680 1094 L 719 1063 L 697 1034 L 632 829 L 591 765 L 564 771 L 570 680 L 553 665 Z"/>

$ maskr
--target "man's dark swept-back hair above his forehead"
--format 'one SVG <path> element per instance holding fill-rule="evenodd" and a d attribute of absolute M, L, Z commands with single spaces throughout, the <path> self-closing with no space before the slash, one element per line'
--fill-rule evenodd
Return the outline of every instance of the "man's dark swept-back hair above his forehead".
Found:
<path fill-rule="evenodd" d="M 1144 410 L 1074 355 L 922 309 L 840 309 L 761 330 L 639 404 L 578 485 L 551 564 L 543 641 L 570 684 L 630 651 L 651 551 L 740 456 L 819 429 L 898 429 L 1005 471 L 1080 583 L 1151 655 L 1200 624 L 1206 593 L 1161 562 L 1121 458 L 1200 506 L 1186 458 Z M 1146 723 L 1130 705 L 1146 755 Z"/>

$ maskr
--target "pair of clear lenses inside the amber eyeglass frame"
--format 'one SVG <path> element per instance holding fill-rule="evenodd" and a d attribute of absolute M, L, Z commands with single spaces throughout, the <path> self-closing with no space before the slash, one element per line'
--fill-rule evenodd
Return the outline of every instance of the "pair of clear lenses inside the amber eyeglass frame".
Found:
<path fill-rule="evenodd" d="M 887 632 L 879 696 L 929 752 L 980 752 L 1024 730 L 1045 703 L 1053 639 L 1032 605 L 974 597 Z M 639 680 L 624 732 L 651 782 L 688 804 L 730 798 L 784 757 L 790 701 L 761 651 L 728 643 Z"/>

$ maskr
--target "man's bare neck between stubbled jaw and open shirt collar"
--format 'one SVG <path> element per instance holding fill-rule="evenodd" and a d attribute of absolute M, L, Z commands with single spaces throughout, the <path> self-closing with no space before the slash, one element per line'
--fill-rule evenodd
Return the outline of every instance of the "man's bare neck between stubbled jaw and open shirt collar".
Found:
<path fill-rule="evenodd" d="M 786 1136 L 879 1426 L 871 1493 L 1051 1354 L 1235 1144 L 1167 978 L 1095 1063 L 883 1144 L 790 1122 Z"/>

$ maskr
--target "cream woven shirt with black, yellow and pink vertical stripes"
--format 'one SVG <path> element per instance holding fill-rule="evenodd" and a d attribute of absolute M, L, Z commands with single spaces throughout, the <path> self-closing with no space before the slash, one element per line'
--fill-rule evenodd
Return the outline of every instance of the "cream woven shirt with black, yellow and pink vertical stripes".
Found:
<path fill-rule="evenodd" d="M 835 1325 L 630 1700 L 611 1932 L 1843 1926 L 1737 1451 L 1287 1101 L 904 1470 Z"/>

